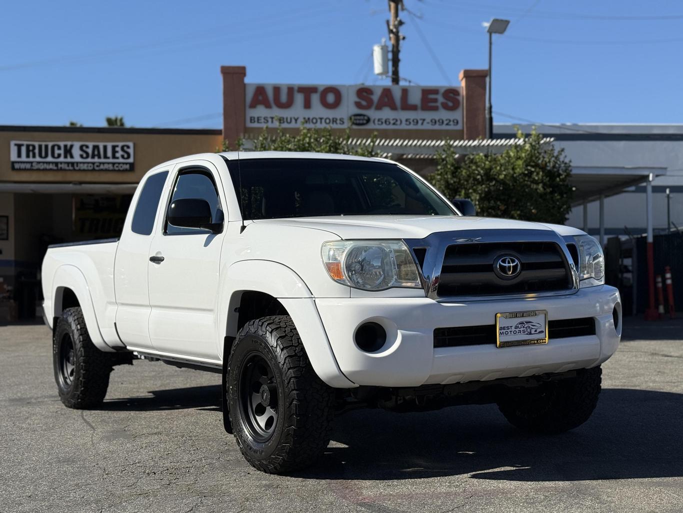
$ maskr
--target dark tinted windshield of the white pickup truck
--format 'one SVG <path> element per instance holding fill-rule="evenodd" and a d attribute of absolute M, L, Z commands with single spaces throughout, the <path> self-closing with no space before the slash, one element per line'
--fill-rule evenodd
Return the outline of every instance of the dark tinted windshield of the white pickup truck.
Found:
<path fill-rule="evenodd" d="M 244 220 L 321 215 L 456 215 L 393 163 L 331 159 L 229 161 Z M 240 176 L 241 174 L 241 176 Z"/>

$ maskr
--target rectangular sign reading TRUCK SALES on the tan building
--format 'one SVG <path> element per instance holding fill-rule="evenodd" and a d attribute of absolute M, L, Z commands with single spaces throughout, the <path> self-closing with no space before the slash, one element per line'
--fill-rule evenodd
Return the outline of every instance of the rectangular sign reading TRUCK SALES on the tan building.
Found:
<path fill-rule="evenodd" d="M 12 171 L 133 171 L 132 142 L 12 141 Z"/>

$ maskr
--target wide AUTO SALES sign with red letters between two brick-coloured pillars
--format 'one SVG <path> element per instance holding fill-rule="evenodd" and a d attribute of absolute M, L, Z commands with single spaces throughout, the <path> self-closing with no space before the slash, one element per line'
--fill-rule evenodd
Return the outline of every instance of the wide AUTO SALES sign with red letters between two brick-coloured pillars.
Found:
<path fill-rule="evenodd" d="M 461 130 L 462 88 L 245 84 L 247 127 Z"/>

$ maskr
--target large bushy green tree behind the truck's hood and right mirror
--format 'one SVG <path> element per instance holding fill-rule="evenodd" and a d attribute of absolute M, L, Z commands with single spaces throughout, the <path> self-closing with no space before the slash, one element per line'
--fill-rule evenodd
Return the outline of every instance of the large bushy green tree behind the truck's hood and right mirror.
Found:
<path fill-rule="evenodd" d="M 571 210 L 571 162 L 535 130 L 517 137 L 524 143 L 499 155 L 461 158 L 446 144 L 428 179 L 447 198 L 471 199 L 479 215 L 563 224 Z"/>

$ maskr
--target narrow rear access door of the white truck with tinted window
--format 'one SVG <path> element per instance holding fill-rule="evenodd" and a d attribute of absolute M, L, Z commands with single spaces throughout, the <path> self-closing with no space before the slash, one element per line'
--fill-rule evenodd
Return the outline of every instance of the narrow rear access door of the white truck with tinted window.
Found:
<path fill-rule="evenodd" d="M 130 347 L 150 349 L 150 295 L 147 274 L 150 244 L 156 212 L 168 171 L 150 174 L 138 187 L 130 204 L 124 231 L 116 248 L 114 290 L 117 303 L 116 329 L 121 340 Z M 128 224 L 130 223 L 130 224 Z"/>

